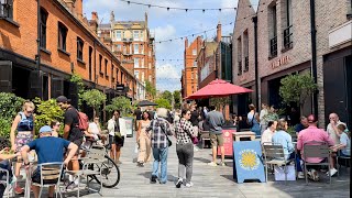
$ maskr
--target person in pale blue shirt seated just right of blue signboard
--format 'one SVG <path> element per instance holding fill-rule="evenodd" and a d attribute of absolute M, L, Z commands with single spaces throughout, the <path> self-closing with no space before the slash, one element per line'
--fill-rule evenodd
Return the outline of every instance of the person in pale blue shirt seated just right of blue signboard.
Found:
<path fill-rule="evenodd" d="M 288 128 L 287 121 L 285 119 L 280 119 L 277 122 L 276 132 L 273 135 L 273 143 L 274 144 L 280 144 L 284 148 L 285 158 L 294 160 L 296 163 L 298 178 L 305 178 L 305 175 L 302 173 L 302 168 L 300 166 L 300 160 L 298 156 L 296 156 L 295 153 L 295 146 L 293 144 L 293 138 L 286 132 Z"/>

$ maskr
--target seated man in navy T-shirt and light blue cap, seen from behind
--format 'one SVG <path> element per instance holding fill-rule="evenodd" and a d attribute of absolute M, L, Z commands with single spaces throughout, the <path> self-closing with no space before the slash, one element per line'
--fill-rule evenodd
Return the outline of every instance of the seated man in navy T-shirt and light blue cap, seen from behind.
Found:
<path fill-rule="evenodd" d="M 64 148 L 68 148 L 67 157 L 64 161 Z M 44 125 L 40 129 L 40 139 L 30 142 L 21 148 L 21 155 L 23 157 L 26 168 L 30 165 L 28 153 L 31 150 L 35 150 L 37 154 L 37 164 L 64 162 L 67 166 L 72 157 L 77 152 L 78 146 L 64 139 L 52 136 L 52 128 Z M 41 184 L 41 173 L 38 167 L 32 174 L 32 182 Z M 56 184 L 57 179 L 44 180 L 44 184 Z M 37 198 L 40 194 L 40 187 L 33 186 L 34 197 Z M 48 188 L 48 197 L 54 197 L 54 186 Z"/>

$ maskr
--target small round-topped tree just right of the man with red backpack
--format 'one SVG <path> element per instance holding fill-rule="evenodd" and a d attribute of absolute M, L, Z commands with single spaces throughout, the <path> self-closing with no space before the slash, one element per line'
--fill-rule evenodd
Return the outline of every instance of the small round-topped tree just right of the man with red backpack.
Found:
<path fill-rule="evenodd" d="M 107 101 L 107 96 L 97 89 L 87 90 L 82 94 L 81 99 L 92 108 L 94 117 L 96 117 L 99 107 Z"/>

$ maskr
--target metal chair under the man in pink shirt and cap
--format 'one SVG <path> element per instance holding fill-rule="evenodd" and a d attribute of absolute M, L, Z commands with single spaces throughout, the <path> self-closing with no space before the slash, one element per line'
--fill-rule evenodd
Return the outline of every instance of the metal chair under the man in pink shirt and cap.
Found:
<path fill-rule="evenodd" d="M 331 174 L 330 174 L 330 151 L 329 145 L 326 142 L 317 142 L 317 141 L 310 141 L 304 143 L 304 158 L 310 158 L 310 157 L 321 157 L 321 158 L 328 158 L 327 161 L 322 161 L 320 163 L 308 163 L 305 161 L 305 177 L 306 177 L 306 184 L 308 185 L 308 169 L 307 165 L 328 165 L 328 174 L 331 185 Z"/>

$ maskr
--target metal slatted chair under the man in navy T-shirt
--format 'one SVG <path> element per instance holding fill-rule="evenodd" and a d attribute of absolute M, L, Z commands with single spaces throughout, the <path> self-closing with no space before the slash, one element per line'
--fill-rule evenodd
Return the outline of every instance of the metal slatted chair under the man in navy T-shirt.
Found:
<path fill-rule="evenodd" d="M 57 193 L 59 194 L 59 197 L 63 197 L 59 188 L 59 178 L 62 176 L 63 163 L 62 162 L 44 163 L 44 164 L 40 164 L 38 168 L 41 170 L 41 184 L 32 183 L 32 185 L 41 187 L 40 197 L 42 196 L 43 187 L 51 187 L 51 186 L 55 186 L 56 197 L 57 197 Z M 44 180 L 55 180 L 55 179 L 57 179 L 57 182 L 54 184 L 45 184 L 44 182 Z"/>

